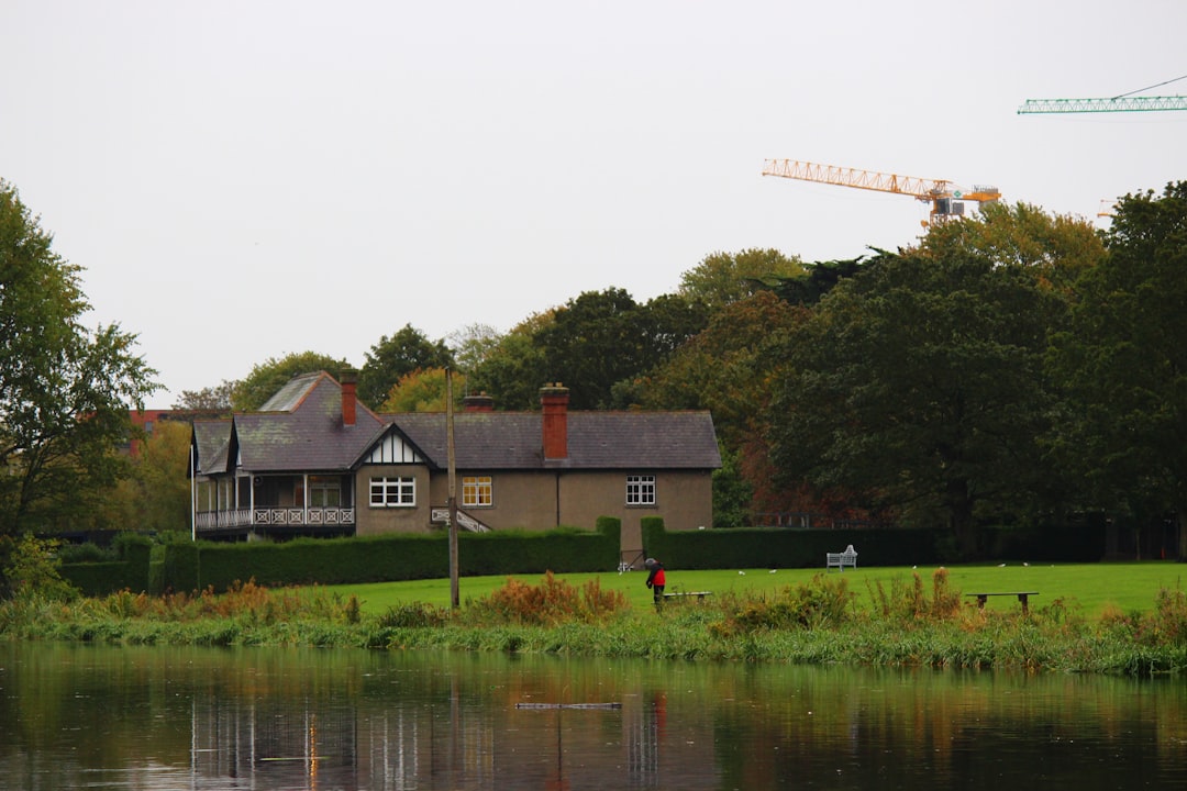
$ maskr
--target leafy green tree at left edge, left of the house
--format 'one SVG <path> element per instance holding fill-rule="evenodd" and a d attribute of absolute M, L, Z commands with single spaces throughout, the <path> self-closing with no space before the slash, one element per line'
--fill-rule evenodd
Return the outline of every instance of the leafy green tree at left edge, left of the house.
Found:
<path fill-rule="evenodd" d="M 157 389 L 135 336 L 82 325 L 80 273 L 0 181 L 0 532 L 85 524 Z"/>

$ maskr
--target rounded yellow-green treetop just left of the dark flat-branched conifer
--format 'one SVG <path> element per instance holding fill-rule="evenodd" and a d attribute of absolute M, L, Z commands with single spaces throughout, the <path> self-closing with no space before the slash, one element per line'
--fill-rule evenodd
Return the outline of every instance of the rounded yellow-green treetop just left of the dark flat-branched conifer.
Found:
<path fill-rule="evenodd" d="M 679 293 L 690 301 L 704 302 L 717 311 L 762 291 L 764 283 L 802 274 L 799 257 L 779 250 L 749 249 L 741 253 L 713 253 L 680 278 Z"/>

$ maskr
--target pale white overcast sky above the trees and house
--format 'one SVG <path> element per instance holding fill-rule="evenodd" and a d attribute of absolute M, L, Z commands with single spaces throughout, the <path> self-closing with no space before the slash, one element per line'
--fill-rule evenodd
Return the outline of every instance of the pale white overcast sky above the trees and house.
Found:
<path fill-rule="evenodd" d="M 0 178 L 158 407 L 410 323 L 645 301 L 715 251 L 918 236 L 926 204 L 767 158 L 1092 218 L 1187 178 L 1187 113 L 1016 115 L 1187 75 L 1183 0 L 0 0 Z"/>

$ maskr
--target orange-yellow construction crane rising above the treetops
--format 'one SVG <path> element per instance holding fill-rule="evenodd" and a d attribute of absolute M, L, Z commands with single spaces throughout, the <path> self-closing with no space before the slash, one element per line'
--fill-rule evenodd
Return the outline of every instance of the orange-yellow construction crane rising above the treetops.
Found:
<path fill-rule="evenodd" d="M 916 200 L 932 204 L 929 219 L 922 223 L 925 227 L 939 224 L 953 217 L 961 217 L 964 200 L 988 203 L 999 200 L 1002 197 L 996 186 L 978 184 L 973 185 L 971 190 L 963 190 L 946 179 L 921 179 L 912 176 L 862 171 L 856 167 L 800 162 L 794 159 L 768 159 L 763 165 L 762 174 L 910 196 Z"/>

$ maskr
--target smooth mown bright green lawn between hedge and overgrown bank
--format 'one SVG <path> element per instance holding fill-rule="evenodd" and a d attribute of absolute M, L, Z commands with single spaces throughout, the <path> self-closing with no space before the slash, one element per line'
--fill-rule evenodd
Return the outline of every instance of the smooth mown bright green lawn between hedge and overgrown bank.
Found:
<path fill-rule="evenodd" d="M 913 573 L 923 581 L 927 594 L 932 591 L 932 573 L 935 568 L 858 568 L 844 572 L 851 589 L 859 600 L 870 601 L 869 586 L 881 582 L 887 592 L 894 580 L 909 582 Z M 1062 599 L 1067 605 L 1079 605 L 1085 615 L 1097 617 L 1106 606 L 1119 607 L 1123 612 L 1148 611 L 1154 606 L 1155 595 L 1160 588 L 1178 589 L 1182 585 L 1187 566 L 1167 561 L 1148 561 L 1143 563 L 1083 563 L 1083 564 L 1033 564 L 1010 563 L 997 566 L 952 566 L 948 568 L 950 587 L 961 593 L 980 592 L 1037 592 L 1030 599 L 1033 608 L 1049 605 L 1055 599 Z M 738 593 L 777 591 L 787 585 L 804 582 L 823 569 L 745 569 L 730 570 L 690 570 L 667 569 L 667 591 L 692 592 L 711 591 L 721 594 L 728 591 Z M 833 576 L 838 572 L 831 572 Z M 526 582 L 537 583 L 540 575 L 516 575 Z M 643 581 L 643 572 L 616 572 L 605 574 L 561 574 L 559 579 L 570 585 L 580 586 L 589 580 L 598 580 L 607 591 L 621 591 L 630 600 L 633 608 L 650 605 L 650 591 Z M 468 599 L 481 599 L 493 589 L 502 586 L 506 576 L 462 578 L 458 583 L 462 602 Z M 374 585 L 341 585 L 328 588 L 342 597 L 357 595 L 364 613 L 380 614 L 398 604 L 423 602 L 440 607 L 450 604 L 449 580 L 413 580 L 408 582 L 380 582 Z M 989 600 L 990 608 L 1017 607 L 1013 597 L 997 597 Z"/>

